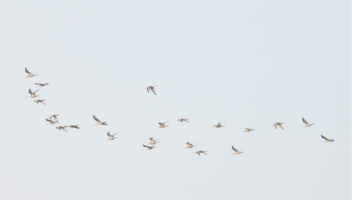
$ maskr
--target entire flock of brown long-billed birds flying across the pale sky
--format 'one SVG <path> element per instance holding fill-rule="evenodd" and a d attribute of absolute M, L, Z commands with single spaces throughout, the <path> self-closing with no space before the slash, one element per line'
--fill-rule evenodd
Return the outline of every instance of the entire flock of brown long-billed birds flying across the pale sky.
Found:
<path fill-rule="evenodd" d="M 28 74 L 28 76 L 26 76 L 25 78 L 27 78 L 27 77 L 30 78 L 30 77 L 36 76 L 36 75 L 37 75 L 36 73 L 38 73 L 38 71 L 37 71 L 36 73 L 33 73 L 33 74 L 32 74 L 32 73 L 30 73 L 30 72 L 27 70 L 27 68 L 25 68 L 25 71 L 26 71 L 26 73 Z M 35 84 L 35 85 L 38 85 L 37 87 L 43 87 L 43 86 L 48 85 L 49 83 L 34 83 L 34 84 Z M 147 92 L 148 92 L 148 93 L 149 93 L 149 90 L 151 90 L 151 91 L 156 95 L 154 87 L 157 87 L 157 86 L 148 86 L 148 87 L 146 87 L 146 88 L 144 88 L 144 89 L 147 89 Z M 31 89 L 29 89 L 28 92 L 29 92 L 30 96 L 27 96 L 27 97 L 35 98 L 35 97 L 39 96 L 39 95 L 36 94 L 36 93 L 38 92 L 38 90 L 39 90 L 39 89 L 37 89 L 36 91 L 32 92 Z M 43 99 L 43 100 L 37 99 L 37 100 L 34 100 L 33 104 L 34 104 L 34 103 L 39 104 L 39 102 L 41 102 L 42 104 L 46 105 L 46 104 L 44 103 L 44 101 L 45 101 L 45 99 Z M 46 121 L 49 122 L 48 124 L 55 124 L 55 123 L 59 124 L 59 121 L 58 121 L 58 119 L 57 119 L 57 116 L 58 116 L 58 115 L 59 115 L 59 114 L 56 114 L 56 115 L 54 114 L 54 115 L 49 116 L 49 119 L 46 118 Z M 51 119 L 54 119 L 54 121 L 51 120 Z M 98 118 L 96 118 L 94 115 L 93 115 L 93 119 L 94 119 L 95 121 L 97 121 L 97 123 L 96 123 L 95 125 L 108 125 L 108 124 L 106 124 L 107 121 L 102 122 L 102 121 L 100 121 Z M 314 125 L 314 123 L 313 123 L 313 124 L 309 124 L 303 117 L 302 117 L 302 120 L 303 120 L 303 123 L 306 124 L 306 125 L 303 126 L 302 128 L 304 128 L 304 127 L 309 127 L 309 126 Z M 184 118 L 177 119 L 175 122 L 177 122 L 177 121 L 180 121 L 180 122 L 186 121 L 186 122 L 189 123 L 188 119 L 184 119 Z M 165 123 L 168 123 L 168 122 L 169 122 L 169 121 L 165 121 L 165 122 L 163 122 L 163 123 L 159 122 L 158 124 L 159 124 L 160 126 L 157 127 L 157 129 L 158 129 L 158 128 L 161 128 L 161 129 L 165 128 L 165 127 L 166 127 Z M 219 122 L 218 124 L 214 125 L 213 128 L 224 127 L 224 126 L 221 125 L 221 123 L 225 123 L 225 122 Z M 274 126 L 275 129 L 277 129 L 277 126 L 279 126 L 282 130 L 284 130 L 284 128 L 283 128 L 283 126 L 282 126 L 283 123 L 284 123 L 284 122 L 277 122 L 277 123 L 273 124 L 272 126 Z M 79 124 L 78 124 L 78 125 L 79 125 Z M 65 129 L 66 127 L 71 128 L 71 129 L 72 129 L 72 128 L 80 129 L 80 127 L 78 127 L 78 125 L 56 126 L 55 129 L 64 130 L 64 131 L 68 132 L 68 131 Z M 95 126 L 95 125 L 94 125 L 94 126 Z M 167 125 L 167 126 L 168 126 L 168 125 Z M 55 130 L 55 129 L 54 129 L 54 130 Z M 254 131 L 254 129 L 249 129 L 249 128 L 245 128 L 245 129 L 246 129 L 246 130 L 243 131 L 243 132 Z M 118 132 L 117 132 L 117 133 L 118 133 Z M 108 133 L 107 133 L 107 136 L 108 136 L 109 138 L 106 139 L 106 140 L 113 140 L 113 139 L 115 139 L 115 138 L 118 138 L 118 137 L 114 137 L 117 133 L 115 133 L 115 134 L 113 134 L 113 135 L 110 135 L 110 133 L 108 132 Z M 323 135 L 321 135 L 321 137 L 322 137 L 323 139 L 325 139 L 325 140 L 322 141 L 322 142 L 334 142 L 334 139 L 328 139 L 328 138 L 324 137 Z M 156 148 L 157 146 L 154 146 L 154 145 L 155 145 L 156 143 L 160 142 L 160 141 L 158 141 L 158 142 L 156 141 L 156 140 L 159 140 L 159 139 L 153 139 L 153 137 L 151 137 L 151 138 L 149 138 L 149 139 L 150 139 L 151 142 L 148 143 L 148 144 L 150 144 L 151 146 L 147 146 L 148 144 L 146 144 L 146 145 L 143 144 L 143 146 L 146 147 L 145 150 L 147 150 L 147 149 L 148 149 L 148 150 L 151 150 L 151 149 L 153 149 L 153 148 Z M 194 146 L 197 146 L 197 145 L 193 145 L 193 144 L 195 144 L 195 143 L 189 143 L 189 142 L 187 142 L 186 144 L 187 144 L 187 146 L 186 146 L 184 149 L 186 149 L 186 148 L 190 149 L 190 148 L 193 148 Z M 238 150 L 235 149 L 233 146 L 231 146 L 231 147 L 232 147 L 232 150 L 235 151 L 233 154 L 240 154 L 240 153 L 243 153 L 243 152 L 244 152 L 243 150 L 238 151 Z M 207 155 L 206 152 L 207 152 L 207 151 L 199 150 L 199 151 L 196 151 L 194 154 L 198 154 L 198 155 L 200 155 L 200 154 L 205 154 L 205 155 Z"/>

